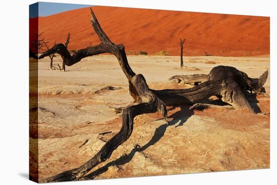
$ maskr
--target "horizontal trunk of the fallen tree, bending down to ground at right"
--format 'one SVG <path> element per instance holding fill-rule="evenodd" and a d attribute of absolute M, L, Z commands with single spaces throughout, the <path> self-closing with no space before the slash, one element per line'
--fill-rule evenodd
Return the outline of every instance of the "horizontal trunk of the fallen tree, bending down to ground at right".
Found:
<path fill-rule="evenodd" d="M 232 80 L 209 80 L 188 89 L 153 90 L 153 93 L 166 105 L 195 104 L 208 100 L 211 96 L 217 96 L 238 110 L 254 113 L 244 92 Z"/>

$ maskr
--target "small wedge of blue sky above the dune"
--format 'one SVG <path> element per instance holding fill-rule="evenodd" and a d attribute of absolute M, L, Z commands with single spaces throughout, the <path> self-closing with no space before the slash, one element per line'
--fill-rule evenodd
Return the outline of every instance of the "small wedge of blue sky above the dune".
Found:
<path fill-rule="evenodd" d="M 60 12 L 81 9 L 85 7 L 92 7 L 92 5 L 39 2 L 39 3 L 30 5 L 29 17 L 34 18 L 37 16 L 42 16 L 42 17 L 50 16 Z"/>

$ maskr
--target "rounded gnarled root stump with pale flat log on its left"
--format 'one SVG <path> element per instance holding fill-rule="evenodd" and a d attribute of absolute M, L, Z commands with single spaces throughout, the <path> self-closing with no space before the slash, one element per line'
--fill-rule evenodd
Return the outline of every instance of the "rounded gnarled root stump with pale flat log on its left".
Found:
<path fill-rule="evenodd" d="M 266 70 L 258 78 L 251 78 L 245 72 L 242 72 L 235 67 L 231 66 L 216 66 L 214 67 L 209 75 L 206 74 L 194 74 L 194 75 L 176 75 L 169 78 L 186 80 L 187 83 L 190 82 L 202 82 L 206 84 L 208 82 L 221 81 L 222 85 L 226 85 L 221 89 L 220 93 L 215 94 L 223 102 L 232 105 L 236 109 L 242 109 L 254 113 L 254 110 L 248 103 L 246 95 L 248 91 L 256 94 L 264 94 L 265 88 L 263 87 L 268 75 L 268 70 Z M 193 78 L 195 76 L 195 78 Z M 163 100 L 163 99 L 162 99 Z"/>

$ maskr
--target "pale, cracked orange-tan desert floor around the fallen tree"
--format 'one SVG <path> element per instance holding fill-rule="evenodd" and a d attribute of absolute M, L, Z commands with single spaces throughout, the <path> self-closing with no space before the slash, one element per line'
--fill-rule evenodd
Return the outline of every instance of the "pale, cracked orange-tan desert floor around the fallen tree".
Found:
<path fill-rule="evenodd" d="M 250 77 L 269 70 L 269 57 L 184 57 L 188 68 L 183 69 L 178 56 L 128 56 L 128 61 L 153 89 L 188 88 L 168 78 L 208 74 L 217 65 L 234 66 Z M 112 55 L 87 57 L 65 72 L 51 70 L 49 63 L 48 57 L 39 61 L 40 180 L 89 160 L 121 127 L 120 115 L 106 106 L 132 101 L 127 79 Z M 54 58 L 57 63 L 61 66 L 59 56 Z M 268 95 L 269 81 L 268 75 Z M 257 100 L 261 111 L 269 113 L 269 97 Z M 131 137 L 92 169 L 89 178 L 269 168 L 269 115 L 188 108 L 167 107 L 170 126 L 160 113 L 137 116 Z"/>

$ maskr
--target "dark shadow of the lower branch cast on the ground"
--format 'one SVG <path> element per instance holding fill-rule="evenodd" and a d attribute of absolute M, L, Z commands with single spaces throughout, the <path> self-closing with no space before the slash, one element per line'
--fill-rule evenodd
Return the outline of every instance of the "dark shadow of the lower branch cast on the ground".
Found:
<path fill-rule="evenodd" d="M 104 166 L 100 167 L 99 169 L 86 175 L 84 177 L 84 179 L 94 179 L 96 176 L 107 171 L 110 166 L 115 165 L 120 169 L 121 168 L 120 165 L 126 164 L 132 160 L 135 152 L 137 152 L 137 151 L 142 152 L 142 151 L 146 150 L 148 147 L 156 144 L 164 136 L 166 129 L 168 127 L 173 126 L 177 123 L 178 123 L 178 125 L 175 127 L 183 126 L 183 124 L 188 120 L 188 118 L 190 118 L 193 115 L 193 111 L 189 110 L 188 105 L 173 106 L 172 108 L 168 109 L 168 111 L 174 110 L 177 107 L 180 108 L 180 111 L 173 113 L 172 115 L 170 115 L 168 117 L 168 118 L 173 118 L 173 120 L 170 121 L 169 125 L 163 124 L 163 125 L 159 126 L 158 128 L 156 128 L 153 137 L 147 144 L 145 144 L 144 146 L 135 145 L 135 147 L 131 150 L 131 152 L 129 154 L 124 154 L 121 157 L 119 157 L 118 159 L 105 164 Z"/>

